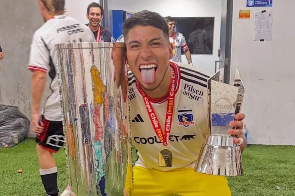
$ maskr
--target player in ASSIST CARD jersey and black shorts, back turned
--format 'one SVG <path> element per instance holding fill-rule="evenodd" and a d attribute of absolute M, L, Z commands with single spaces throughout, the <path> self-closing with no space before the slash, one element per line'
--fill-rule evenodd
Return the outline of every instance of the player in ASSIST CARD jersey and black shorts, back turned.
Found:
<path fill-rule="evenodd" d="M 95 42 L 90 29 L 64 14 L 65 0 L 39 0 L 41 15 L 45 21 L 35 31 L 30 51 L 28 69 L 32 74 L 32 131 L 36 133 L 40 175 L 47 195 L 58 196 L 57 168 L 52 153 L 64 144 L 62 109 L 55 70 L 57 55 L 55 44 L 68 42 Z M 40 104 L 48 73 L 51 82 L 46 88 L 47 97 L 40 115 Z M 65 190 L 62 195 L 70 194 Z M 40 194 L 42 195 L 42 194 Z"/>

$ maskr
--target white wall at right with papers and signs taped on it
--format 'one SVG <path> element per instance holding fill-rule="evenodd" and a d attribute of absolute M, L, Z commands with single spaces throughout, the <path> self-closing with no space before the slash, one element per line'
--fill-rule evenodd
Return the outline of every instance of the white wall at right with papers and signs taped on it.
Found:
<path fill-rule="evenodd" d="M 250 8 L 251 19 L 238 19 L 246 1 L 234 1 L 232 71 L 237 66 L 246 91 L 242 111 L 251 144 L 295 145 L 294 0 Z M 254 11 L 273 11 L 271 41 L 253 41 Z"/>

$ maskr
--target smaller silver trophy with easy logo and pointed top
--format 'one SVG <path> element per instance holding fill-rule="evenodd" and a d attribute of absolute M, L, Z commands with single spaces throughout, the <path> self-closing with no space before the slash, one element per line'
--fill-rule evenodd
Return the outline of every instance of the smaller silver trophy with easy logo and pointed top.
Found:
<path fill-rule="evenodd" d="M 208 79 L 209 128 L 194 170 L 211 175 L 243 174 L 240 146 L 227 133 L 230 121 L 241 110 L 245 86 L 237 70 L 234 86 L 224 83 L 224 68 Z M 235 129 L 235 128 L 234 128 Z"/>

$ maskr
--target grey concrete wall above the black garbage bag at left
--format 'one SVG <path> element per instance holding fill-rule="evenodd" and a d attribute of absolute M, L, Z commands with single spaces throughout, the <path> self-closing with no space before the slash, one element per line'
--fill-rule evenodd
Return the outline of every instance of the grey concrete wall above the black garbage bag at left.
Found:
<path fill-rule="evenodd" d="M 0 61 L 0 103 L 18 106 L 29 119 L 31 72 L 27 64 L 33 32 L 42 24 L 38 1 L 1 0 L 0 44 L 5 57 Z"/>

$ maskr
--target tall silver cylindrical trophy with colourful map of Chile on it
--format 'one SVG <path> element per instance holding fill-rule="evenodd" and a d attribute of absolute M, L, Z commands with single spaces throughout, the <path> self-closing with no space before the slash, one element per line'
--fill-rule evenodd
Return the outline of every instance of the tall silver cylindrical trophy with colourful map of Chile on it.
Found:
<path fill-rule="evenodd" d="M 132 165 L 125 45 L 55 47 L 71 191 L 122 196 Z"/>

